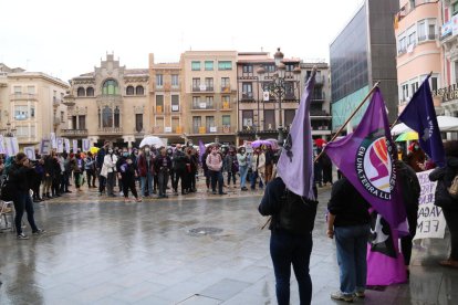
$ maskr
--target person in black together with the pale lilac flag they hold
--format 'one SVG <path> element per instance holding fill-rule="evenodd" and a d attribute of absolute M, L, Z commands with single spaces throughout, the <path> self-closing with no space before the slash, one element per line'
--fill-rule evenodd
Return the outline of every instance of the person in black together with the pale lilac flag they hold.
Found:
<path fill-rule="evenodd" d="M 316 67 L 313 67 L 277 165 L 278 177 L 267 185 L 258 208 L 262 215 L 271 215 L 270 255 L 280 305 L 290 304 L 291 265 L 298 280 L 301 304 L 312 301 L 309 264 L 318 201 L 313 181 L 310 104 L 315 74 Z"/>

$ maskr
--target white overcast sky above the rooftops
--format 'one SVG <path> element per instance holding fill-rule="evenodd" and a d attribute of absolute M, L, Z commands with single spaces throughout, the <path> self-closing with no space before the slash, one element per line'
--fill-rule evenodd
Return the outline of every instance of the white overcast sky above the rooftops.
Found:
<path fill-rule="evenodd" d="M 184 51 L 237 50 L 324 59 L 363 0 L 2 1 L 0 62 L 67 81 L 114 51 L 127 69 Z"/>

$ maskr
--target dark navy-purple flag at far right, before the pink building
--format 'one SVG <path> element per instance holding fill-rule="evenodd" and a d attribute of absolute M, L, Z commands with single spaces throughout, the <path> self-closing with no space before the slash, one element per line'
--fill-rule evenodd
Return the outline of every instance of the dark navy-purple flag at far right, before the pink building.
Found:
<path fill-rule="evenodd" d="M 399 120 L 418 133 L 418 141 L 423 150 L 439 167 L 444 167 L 445 151 L 440 137 L 437 116 L 434 109 L 429 76 L 412 97 L 399 115 Z"/>

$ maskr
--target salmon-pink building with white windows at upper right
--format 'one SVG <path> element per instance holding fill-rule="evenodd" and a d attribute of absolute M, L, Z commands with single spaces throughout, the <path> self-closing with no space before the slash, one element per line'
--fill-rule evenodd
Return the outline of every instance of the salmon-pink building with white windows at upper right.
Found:
<path fill-rule="evenodd" d="M 437 92 L 443 83 L 441 48 L 438 43 L 440 3 L 438 1 L 399 1 L 395 15 L 397 43 L 397 83 L 399 113 L 425 77 L 433 72 L 430 87 Z M 446 32 L 446 31 L 445 31 Z M 451 33 L 451 27 L 450 27 Z M 444 34 L 444 41 L 452 38 Z M 436 113 L 441 114 L 440 98 L 435 97 Z"/>

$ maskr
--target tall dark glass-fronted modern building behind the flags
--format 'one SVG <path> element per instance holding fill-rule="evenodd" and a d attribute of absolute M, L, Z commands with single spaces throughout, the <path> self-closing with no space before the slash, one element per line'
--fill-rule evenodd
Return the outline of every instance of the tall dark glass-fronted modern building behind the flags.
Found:
<path fill-rule="evenodd" d="M 331 43 L 332 128 L 336 132 L 356 106 L 381 81 L 388 117 L 397 116 L 396 39 L 393 18 L 398 0 L 365 0 L 356 14 Z M 352 119 L 355 127 L 362 111 Z"/>

